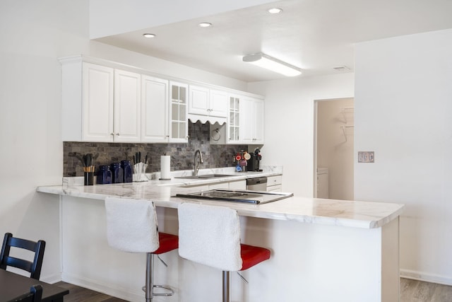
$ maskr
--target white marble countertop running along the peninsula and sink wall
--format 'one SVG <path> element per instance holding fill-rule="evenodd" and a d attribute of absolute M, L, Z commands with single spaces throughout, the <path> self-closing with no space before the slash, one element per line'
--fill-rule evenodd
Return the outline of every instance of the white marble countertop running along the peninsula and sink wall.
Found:
<path fill-rule="evenodd" d="M 216 173 L 216 172 L 215 172 Z M 280 175 L 281 172 L 270 171 L 258 175 Z M 245 173 L 243 173 L 245 174 Z M 201 180 L 203 183 L 239 180 L 250 177 L 239 175 L 233 178 Z M 256 177 L 256 176 L 255 176 Z M 157 180 L 155 180 L 157 181 Z M 358 202 L 335 199 L 316 199 L 307 197 L 290 197 L 267 204 L 241 204 L 239 202 L 220 202 L 210 200 L 184 199 L 174 197 L 177 193 L 196 192 L 196 187 L 178 187 L 177 184 L 195 185 L 198 180 L 176 179 L 164 185 L 150 182 L 129 182 L 114 185 L 54 185 L 37 187 L 37 192 L 59 194 L 63 196 L 82 197 L 104 200 L 107 196 L 150 199 L 157 207 L 177 208 L 182 202 L 202 202 L 217 204 L 236 209 L 239 215 L 263 219 L 299 221 L 302 223 L 320 223 L 332 226 L 349 226 L 354 228 L 379 228 L 396 219 L 403 211 L 403 204 L 383 202 Z M 201 184 L 200 184 L 201 185 Z"/>

